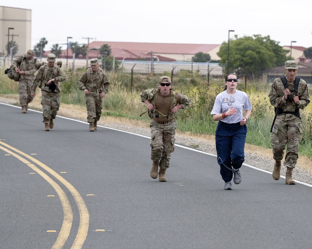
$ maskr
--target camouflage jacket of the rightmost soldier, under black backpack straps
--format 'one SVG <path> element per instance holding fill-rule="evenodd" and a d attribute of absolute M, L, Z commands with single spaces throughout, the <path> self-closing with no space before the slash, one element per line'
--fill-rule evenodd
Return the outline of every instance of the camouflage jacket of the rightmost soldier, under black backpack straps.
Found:
<path fill-rule="evenodd" d="M 288 89 L 291 91 L 295 90 L 295 82 L 287 81 Z M 310 95 L 307 83 L 300 79 L 298 86 L 298 96 L 299 96 L 299 105 L 297 106 L 294 101 L 286 101 L 284 98 L 284 85 L 280 78 L 276 78 L 269 91 L 269 99 L 270 103 L 274 107 L 282 108 L 283 111 L 294 112 L 298 107 L 300 109 L 304 109 L 310 103 Z M 295 92 L 291 92 L 290 99 L 293 99 L 295 96 Z"/>

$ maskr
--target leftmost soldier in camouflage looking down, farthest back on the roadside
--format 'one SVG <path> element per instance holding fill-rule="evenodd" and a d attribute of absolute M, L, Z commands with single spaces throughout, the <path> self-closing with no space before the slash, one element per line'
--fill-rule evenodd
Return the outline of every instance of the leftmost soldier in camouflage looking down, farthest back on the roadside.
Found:
<path fill-rule="evenodd" d="M 27 54 L 18 56 L 12 62 L 15 72 L 20 74 L 18 92 L 22 113 L 28 110 L 28 103 L 32 102 L 32 82 L 35 79 L 36 59 L 34 50 L 29 49 Z"/>

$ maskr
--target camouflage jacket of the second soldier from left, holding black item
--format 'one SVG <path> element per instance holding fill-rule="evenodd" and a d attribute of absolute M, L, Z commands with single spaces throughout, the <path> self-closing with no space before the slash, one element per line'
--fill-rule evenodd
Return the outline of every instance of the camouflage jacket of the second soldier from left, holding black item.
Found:
<path fill-rule="evenodd" d="M 44 77 L 44 71 L 46 69 L 46 65 L 44 64 L 42 65 L 39 70 L 38 73 L 36 75 L 36 78 L 34 80 L 34 82 L 32 83 L 32 93 L 36 92 L 36 88 L 39 84 L 39 87 L 41 88 L 41 90 L 47 91 L 47 92 L 51 92 L 50 88 L 48 86 L 46 86 L 46 83 L 50 80 L 50 79 L 55 79 L 55 84 L 56 84 L 56 91 L 55 92 L 61 92 L 59 85 L 61 81 L 66 80 L 66 74 L 64 72 L 63 69 L 61 69 L 60 67 L 58 67 L 56 64 L 53 67 L 49 67 L 46 71 L 46 76 Z M 55 75 L 55 72 L 57 75 Z"/>

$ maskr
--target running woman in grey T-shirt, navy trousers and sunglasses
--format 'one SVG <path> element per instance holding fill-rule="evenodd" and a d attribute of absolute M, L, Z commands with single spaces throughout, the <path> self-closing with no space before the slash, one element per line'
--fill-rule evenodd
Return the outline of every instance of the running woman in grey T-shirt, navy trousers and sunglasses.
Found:
<path fill-rule="evenodd" d="M 224 91 L 217 95 L 210 113 L 214 121 L 219 121 L 216 129 L 216 149 L 225 190 L 232 190 L 233 174 L 234 183 L 241 183 L 239 169 L 245 161 L 244 147 L 247 134 L 245 124 L 252 109 L 247 94 L 236 89 L 237 82 L 235 73 L 225 77 Z"/>

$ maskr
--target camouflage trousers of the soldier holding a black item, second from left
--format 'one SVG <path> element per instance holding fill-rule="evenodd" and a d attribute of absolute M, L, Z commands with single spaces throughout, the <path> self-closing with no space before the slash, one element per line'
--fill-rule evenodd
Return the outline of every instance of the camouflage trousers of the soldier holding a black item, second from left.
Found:
<path fill-rule="evenodd" d="M 55 119 L 60 109 L 60 93 L 41 90 L 41 94 L 43 123 L 49 123 L 50 119 Z"/>

